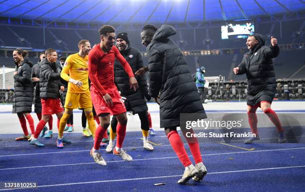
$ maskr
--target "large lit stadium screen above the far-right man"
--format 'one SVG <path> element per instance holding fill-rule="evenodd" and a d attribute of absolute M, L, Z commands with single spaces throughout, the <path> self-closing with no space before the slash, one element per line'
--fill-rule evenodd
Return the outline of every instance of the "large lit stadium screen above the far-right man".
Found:
<path fill-rule="evenodd" d="M 253 22 L 226 23 L 226 25 L 221 26 L 221 39 L 247 38 L 253 33 Z"/>

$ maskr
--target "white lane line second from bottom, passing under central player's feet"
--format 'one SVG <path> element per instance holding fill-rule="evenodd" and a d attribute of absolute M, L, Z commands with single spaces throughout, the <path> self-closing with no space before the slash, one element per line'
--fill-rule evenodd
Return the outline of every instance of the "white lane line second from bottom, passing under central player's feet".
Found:
<path fill-rule="evenodd" d="M 283 151 L 283 150 L 298 150 L 298 149 L 305 149 L 303 148 L 290 148 L 290 149 L 275 149 L 275 150 L 261 150 L 261 151 L 241 151 L 241 152 L 229 152 L 229 153 L 214 153 L 214 154 L 205 154 L 201 156 L 215 156 L 215 155 L 231 155 L 231 154 L 243 154 L 243 153 L 257 153 L 257 152 L 270 152 L 270 151 Z M 192 157 L 192 156 L 188 156 Z M 163 159 L 174 159 L 174 157 L 161 157 L 161 158 L 148 158 L 148 159 L 134 159 L 133 161 L 147 161 L 147 160 L 163 160 Z M 116 162 L 124 162 L 123 160 L 119 161 L 108 161 L 107 163 L 116 163 Z M 87 165 L 87 164 L 95 164 L 94 162 L 91 163 L 77 163 L 77 164 L 60 164 L 60 165 L 46 165 L 46 166 L 32 166 L 32 167 L 18 167 L 18 168 L 4 168 L 0 169 L 0 171 L 4 170 L 18 170 L 18 169 L 30 169 L 30 168 L 46 168 L 46 167 L 59 167 L 59 166 L 75 166 L 75 165 Z"/>

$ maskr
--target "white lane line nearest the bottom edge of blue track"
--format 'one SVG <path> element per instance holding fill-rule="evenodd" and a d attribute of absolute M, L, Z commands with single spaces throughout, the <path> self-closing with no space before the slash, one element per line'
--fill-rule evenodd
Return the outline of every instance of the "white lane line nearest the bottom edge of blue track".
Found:
<path fill-rule="evenodd" d="M 227 172 L 212 172 L 212 173 L 208 173 L 208 175 L 213 175 L 213 174 L 230 174 L 230 173 L 241 173 L 241 172 L 254 172 L 254 171 L 267 171 L 267 170 L 281 170 L 281 169 L 294 169 L 294 168 L 305 168 L 305 165 L 303 165 L 303 166 L 290 166 L 290 167 L 251 169 L 251 170 L 235 170 L 235 171 L 227 171 Z M 47 188 L 47 187 L 57 187 L 57 186 L 73 186 L 73 185 L 96 184 L 96 183 L 107 183 L 107 182 L 127 182 L 127 181 L 138 181 L 138 180 L 160 179 L 160 178 L 174 178 L 174 177 L 181 177 L 181 176 L 182 175 L 158 176 L 158 177 L 147 177 L 147 178 L 131 178 L 131 179 L 121 179 L 121 180 L 102 180 L 102 181 L 92 181 L 92 182 L 79 182 L 79 183 L 68 183 L 68 184 L 44 185 L 44 186 L 37 186 L 37 188 Z M 0 191 L 21 190 L 21 189 L 25 189 L 25 188 L 2 189 Z M 28 189 L 31 189 L 31 188 L 28 188 Z"/>

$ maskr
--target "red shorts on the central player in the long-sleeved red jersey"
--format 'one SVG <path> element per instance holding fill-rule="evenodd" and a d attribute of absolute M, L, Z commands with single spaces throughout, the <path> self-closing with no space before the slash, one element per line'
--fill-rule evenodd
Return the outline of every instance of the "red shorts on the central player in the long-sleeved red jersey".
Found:
<path fill-rule="evenodd" d="M 90 89 L 92 104 L 97 115 L 101 113 L 110 113 L 110 115 L 118 115 L 126 112 L 124 101 L 121 98 L 118 88 L 116 86 L 111 88 L 105 88 L 107 93 L 112 98 L 112 106 L 108 106 L 106 104 L 103 96 L 96 90 L 94 86 L 91 86 Z"/>

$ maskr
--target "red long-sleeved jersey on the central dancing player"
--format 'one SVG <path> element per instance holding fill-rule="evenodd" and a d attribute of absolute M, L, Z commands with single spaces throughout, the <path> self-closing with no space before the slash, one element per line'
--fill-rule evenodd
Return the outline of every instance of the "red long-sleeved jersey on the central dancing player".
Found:
<path fill-rule="evenodd" d="M 108 53 L 105 53 L 101 49 L 100 44 L 97 44 L 89 52 L 89 79 L 91 80 L 91 85 L 93 85 L 103 96 L 107 93 L 105 88 L 116 86 L 114 83 L 115 58 L 120 61 L 129 77 L 135 76 L 129 63 L 121 55 L 116 46 L 113 46 Z"/>

